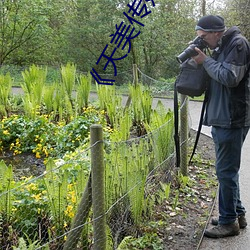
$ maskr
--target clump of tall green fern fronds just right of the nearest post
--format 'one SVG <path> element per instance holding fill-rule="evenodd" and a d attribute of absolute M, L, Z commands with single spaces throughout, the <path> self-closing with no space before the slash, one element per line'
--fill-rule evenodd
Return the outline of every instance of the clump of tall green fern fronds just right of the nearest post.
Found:
<path fill-rule="evenodd" d="M 131 145 L 111 142 L 110 149 L 112 153 L 105 157 L 107 207 L 126 195 L 125 207 L 130 208 L 135 224 L 138 225 L 145 209 L 144 189 L 151 160 L 150 146 L 147 139 L 140 139 L 131 141 Z"/>

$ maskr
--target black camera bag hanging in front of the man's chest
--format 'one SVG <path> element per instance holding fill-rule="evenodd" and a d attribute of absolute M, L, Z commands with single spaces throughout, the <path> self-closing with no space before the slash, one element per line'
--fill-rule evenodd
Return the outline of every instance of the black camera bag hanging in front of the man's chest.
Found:
<path fill-rule="evenodd" d="M 175 81 L 177 92 L 191 97 L 201 96 L 209 79 L 203 65 L 197 64 L 192 58 L 181 64 L 180 74 Z"/>

